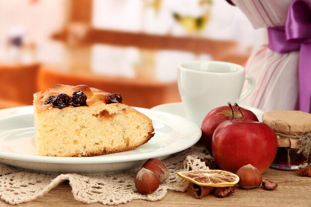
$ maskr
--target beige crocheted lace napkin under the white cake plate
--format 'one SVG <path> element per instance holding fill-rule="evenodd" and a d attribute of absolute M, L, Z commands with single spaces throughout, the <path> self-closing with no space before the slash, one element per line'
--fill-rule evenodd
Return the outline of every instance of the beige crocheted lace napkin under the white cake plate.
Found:
<path fill-rule="evenodd" d="M 210 159 L 203 147 L 193 146 L 165 158 L 163 163 L 169 170 L 169 177 L 153 194 L 141 195 L 134 181 L 139 168 L 127 173 L 82 176 L 78 174 L 46 175 L 16 169 L 0 164 L 0 197 L 3 201 L 16 205 L 45 195 L 58 184 L 69 180 L 76 200 L 104 205 L 118 205 L 132 200 L 158 201 L 168 190 L 184 192 L 190 183 L 178 177 L 176 172 L 185 170 L 208 169 L 200 158 Z"/>

